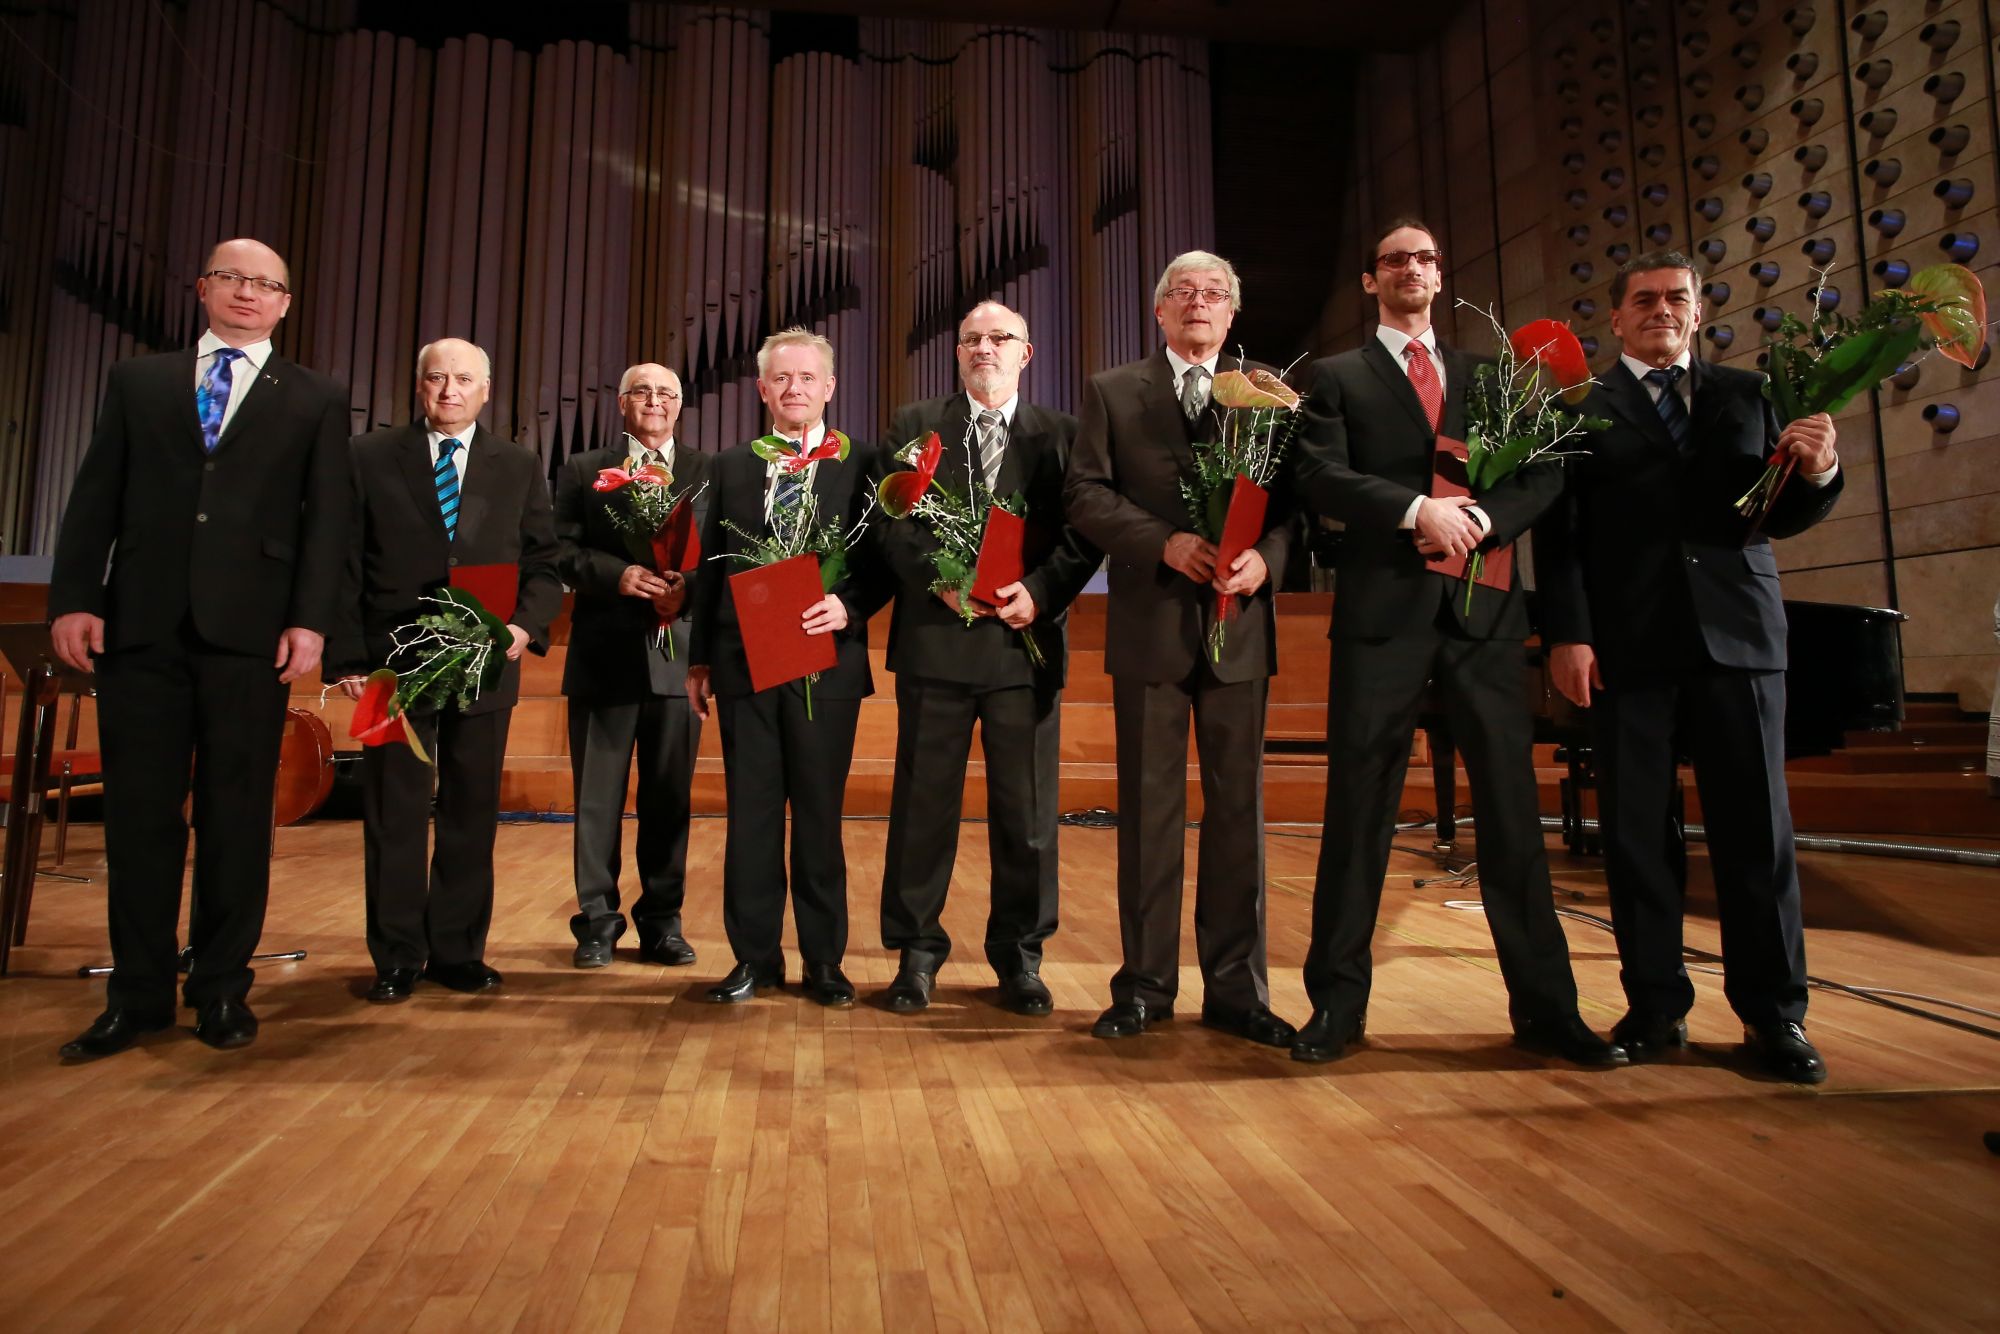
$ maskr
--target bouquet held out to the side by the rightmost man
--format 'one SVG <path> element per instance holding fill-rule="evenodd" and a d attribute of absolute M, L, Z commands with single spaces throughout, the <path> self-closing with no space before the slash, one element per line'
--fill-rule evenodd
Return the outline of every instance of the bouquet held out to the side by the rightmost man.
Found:
<path fill-rule="evenodd" d="M 1822 268 L 1808 292 L 1812 322 L 1786 314 L 1766 342 L 1770 380 L 1764 382 L 1764 396 L 1778 414 L 1778 426 L 1814 412 L 1840 412 L 1912 356 L 1936 350 L 1972 368 L 1986 346 L 1986 290 L 1960 264 L 1932 264 L 1912 274 L 1910 286 L 1876 292 L 1854 320 L 1822 306 L 1824 286 Z M 1756 486 L 1736 498 L 1736 512 L 1750 520 L 1748 536 L 1770 518 L 1796 464 L 1792 456 L 1784 462 L 1774 458 Z"/>

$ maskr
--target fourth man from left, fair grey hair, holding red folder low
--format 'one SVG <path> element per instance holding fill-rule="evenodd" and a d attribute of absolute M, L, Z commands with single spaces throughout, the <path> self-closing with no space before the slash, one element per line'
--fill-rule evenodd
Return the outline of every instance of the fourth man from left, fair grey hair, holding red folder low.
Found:
<path fill-rule="evenodd" d="M 784 816 L 792 810 L 792 920 L 804 962 L 806 996 L 822 1006 L 854 1004 L 854 984 L 840 970 L 848 948 L 848 860 L 840 844 L 840 808 L 862 698 L 874 694 L 868 672 L 868 616 L 888 602 L 872 534 L 854 538 L 848 574 L 802 616 L 806 634 L 832 634 L 838 664 L 806 680 L 756 690 L 744 656 L 728 574 L 746 566 L 744 534 L 772 534 L 798 514 L 804 496 L 818 524 L 852 532 L 868 512 L 874 454 L 852 444 L 840 456 L 826 428 L 834 396 L 834 350 L 818 334 L 788 328 L 756 354 L 758 396 L 772 434 L 790 442 L 790 460 L 766 460 L 752 444 L 724 450 L 708 470 L 710 500 L 702 522 L 702 558 L 718 564 L 694 582 L 694 634 L 688 646 L 688 704 L 722 722 L 722 782 L 728 832 L 722 850 L 722 926 L 736 966 L 708 1000 L 734 1004 L 784 982 Z M 824 456 L 818 456 L 824 450 Z M 808 460 L 790 466 L 798 460 Z M 808 714 L 810 702 L 810 714 Z"/>

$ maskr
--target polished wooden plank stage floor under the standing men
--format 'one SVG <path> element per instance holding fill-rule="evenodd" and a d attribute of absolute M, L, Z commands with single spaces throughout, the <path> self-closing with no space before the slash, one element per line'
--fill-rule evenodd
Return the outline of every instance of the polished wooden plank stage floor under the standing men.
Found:
<path fill-rule="evenodd" d="M 96 834 L 76 830 L 72 868 L 100 866 Z M 864 998 L 894 972 L 882 834 L 848 824 Z M 1294 1020 L 1316 834 L 1268 838 Z M 360 828 L 282 830 L 266 944 L 310 960 L 260 974 L 256 1046 L 172 1032 L 82 1068 L 56 1046 L 102 1004 L 70 976 L 104 954 L 102 890 L 42 880 L 0 982 L 0 1330 L 2000 1322 L 1990 1036 L 1818 992 L 1832 1080 L 1788 1088 L 1736 1062 L 1702 974 L 1690 1060 L 1570 1070 L 1506 1046 L 1484 924 L 1398 856 L 1364 1052 L 1308 1068 L 1188 1018 L 1106 1044 L 1086 1026 L 1116 964 L 1112 840 L 1064 830 L 1058 1010 L 1024 1020 L 978 960 L 984 870 L 954 890 L 970 948 L 922 1016 L 700 1004 L 728 966 L 720 820 L 692 838 L 700 964 L 574 972 L 568 826 L 510 826 L 488 954 L 506 990 L 374 1008 Z M 962 868 L 984 854 L 968 824 Z M 2000 1008 L 2000 876 L 1804 862 L 1818 976 Z M 1556 866 L 1602 914 L 1602 866 Z M 1610 936 L 1566 930 L 1604 1028 Z M 1714 948 L 1706 902 L 1688 936 Z M 1184 946 L 1194 1010 L 1192 928 Z"/>

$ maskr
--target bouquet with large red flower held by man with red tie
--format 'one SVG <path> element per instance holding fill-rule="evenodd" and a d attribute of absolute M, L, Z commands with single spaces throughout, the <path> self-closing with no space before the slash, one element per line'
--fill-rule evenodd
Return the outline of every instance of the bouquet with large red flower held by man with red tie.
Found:
<path fill-rule="evenodd" d="M 1472 306 L 1472 302 L 1458 302 Z M 1578 416 L 1596 380 L 1584 344 L 1560 320 L 1530 320 L 1512 334 L 1492 310 L 1480 310 L 1494 328 L 1496 354 L 1472 372 L 1466 388 L 1466 490 L 1482 496 L 1522 468 L 1558 462 L 1566 440 L 1610 426 L 1604 418 Z M 1486 554 L 1466 562 L 1466 612 L 1486 570 Z"/>

